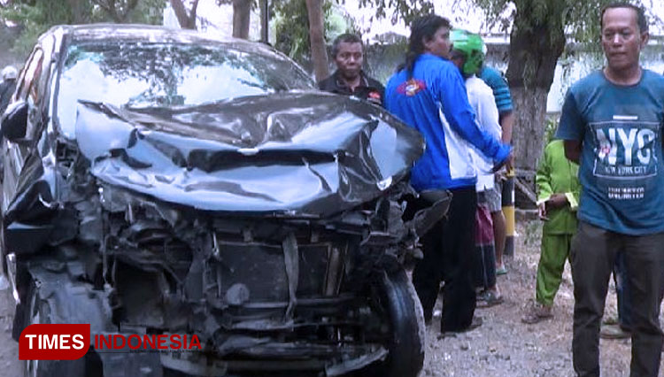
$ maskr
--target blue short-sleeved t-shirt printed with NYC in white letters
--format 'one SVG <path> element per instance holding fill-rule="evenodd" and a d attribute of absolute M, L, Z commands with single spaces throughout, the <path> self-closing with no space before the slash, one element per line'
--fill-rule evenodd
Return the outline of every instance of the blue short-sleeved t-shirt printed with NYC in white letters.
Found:
<path fill-rule="evenodd" d="M 583 142 L 578 218 L 626 235 L 664 231 L 664 77 L 632 86 L 591 73 L 569 89 L 556 136 Z"/>

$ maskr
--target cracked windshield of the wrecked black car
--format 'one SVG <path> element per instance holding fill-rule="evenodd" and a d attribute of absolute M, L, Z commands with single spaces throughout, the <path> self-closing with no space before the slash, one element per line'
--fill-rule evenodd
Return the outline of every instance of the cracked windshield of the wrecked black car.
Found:
<path fill-rule="evenodd" d="M 58 121 L 73 138 L 78 100 L 118 106 L 186 106 L 315 88 L 297 65 L 277 55 L 190 43 L 77 43 L 66 51 Z"/>

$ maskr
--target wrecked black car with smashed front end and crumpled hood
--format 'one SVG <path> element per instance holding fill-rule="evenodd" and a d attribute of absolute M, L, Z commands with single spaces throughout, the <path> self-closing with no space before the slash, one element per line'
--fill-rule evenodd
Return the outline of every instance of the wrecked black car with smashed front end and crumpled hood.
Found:
<path fill-rule="evenodd" d="M 2 122 L 13 337 L 89 323 L 203 347 L 91 347 L 27 375 L 420 372 L 403 264 L 449 197 L 404 217 L 415 130 L 270 47 L 160 27 L 54 27 L 18 82 Z"/>

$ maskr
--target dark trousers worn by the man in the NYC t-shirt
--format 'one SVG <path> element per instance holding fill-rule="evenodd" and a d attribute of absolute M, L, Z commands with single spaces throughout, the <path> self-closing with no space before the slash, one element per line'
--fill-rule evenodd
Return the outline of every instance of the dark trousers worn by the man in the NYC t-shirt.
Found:
<path fill-rule="evenodd" d="M 574 369 L 579 376 L 599 375 L 599 323 L 617 253 L 625 258 L 632 319 L 630 376 L 657 376 L 664 295 L 664 233 L 622 235 L 579 222 L 570 259 L 574 279 Z"/>

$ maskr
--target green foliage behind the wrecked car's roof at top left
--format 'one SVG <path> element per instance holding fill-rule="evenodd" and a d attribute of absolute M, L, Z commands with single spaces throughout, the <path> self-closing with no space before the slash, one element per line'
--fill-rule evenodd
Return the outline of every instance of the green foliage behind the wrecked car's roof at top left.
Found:
<path fill-rule="evenodd" d="M 26 56 L 39 35 L 55 25 L 113 22 L 111 15 L 97 3 L 96 0 L 14 0 L 0 8 L 0 18 L 22 27 L 12 50 Z M 119 0 L 118 6 L 126 7 L 125 3 L 126 0 Z M 165 6 L 166 0 L 139 0 L 128 13 L 127 22 L 159 24 Z"/>

